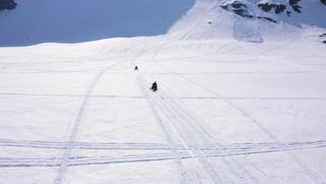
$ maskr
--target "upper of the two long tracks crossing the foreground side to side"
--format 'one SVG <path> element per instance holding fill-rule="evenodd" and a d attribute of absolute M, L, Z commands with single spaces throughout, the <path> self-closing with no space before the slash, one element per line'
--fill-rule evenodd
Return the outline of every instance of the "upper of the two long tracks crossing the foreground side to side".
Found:
<path fill-rule="evenodd" d="M 9 139 L 0 139 L 0 146 L 12 146 L 17 148 L 49 148 L 49 149 L 65 149 L 67 142 L 56 141 L 16 141 Z M 277 143 L 281 144 L 281 143 Z M 323 148 L 326 147 L 326 141 L 308 141 L 308 142 L 286 142 L 288 149 L 311 149 L 311 148 Z M 203 151 L 215 151 L 217 144 L 198 144 L 196 148 Z M 238 153 L 240 151 L 254 151 L 263 152 L 279 151 L 274 143 L 246 143 L 246 144 L 219 144 L 222 149 L 228 149 L 232 152 Z M 75 142 L 74 148 L 76 149 L 98 149 L 98 150 L 169 150 L 171 147 L 168 144 L 141 144 L 141 143 L 86 143 Z M 180 151 L 187 150 L 187 147 L 181 144 L 174 144 L 174 149 Z"/>

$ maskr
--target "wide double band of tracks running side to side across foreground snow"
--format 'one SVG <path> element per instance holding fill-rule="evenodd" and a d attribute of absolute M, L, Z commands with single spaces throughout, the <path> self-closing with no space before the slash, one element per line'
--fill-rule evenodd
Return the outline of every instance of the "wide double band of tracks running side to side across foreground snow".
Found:
<path fill-rule="evenodd" d="M 9 141 L 12 143 L 13 141 Z M 1 142 L 3 143 L 3 142 Z M 4 141 L 4 145 L 8 146 Z M 21 144 L 15 141 L 15 146 Z M 26 145 L 27 144 L 27 145 Z M 39 144 L 38 142 L 36 144 Z M 49 147 L 52 145 L 54 147 Z M 86 143 L 76 143 L 74 144 L 74 149 L 96 149 L 96 150 L 143 150 L 143 151 L 170 151 L 169 145 L 164 144 L 86 144 Z M 85 145 L 86 144 L 86 145 Z M 303 150 L 303 149 L 313 149 L 313 148 L 326 148 L 326 141 L 314 141 L 308 143 L 288 143 L 292 145 L 287 151 L 290 150 Z M 22 147 L 28 148 L 54 148 L 54 149 L 65 149 L 65 147 L 59 147 L 60 142 L 49 142 L 46 147 L 33 147 L 35 142 L 32 142 L 32 146 L 28 145 L 25 141 Z M 94 145 L 93 147 L 91 145 Z M 107 146 L 105 146 L 107 145 Z M 81 146 L 81 147 L 79 147 Z M 217 149 L 216 146 L 220 146 L 221 149 Z M 18 146 L 21 147 L 21 146 Z M 178 151 L 178 155 L 181 160 L 194 158 L 194 156 L 189 153 L 189 150 L 183 145 L 178 145 L 175 148 Z M 198 150 L 203 152 L 208 158 L 226 158 L 236 155 L 252 155 L 252 154 L 264 154 L 279 152 L 279 148 L 274 146 L 272 143 L 261 143 L 261 144 L 232 144 L 232 145 L 216 145 L 216 144 L 203 144 L 192 146 L 193 150 Z M 223 150 L 228 149 L 231 152 L 226 154 Z M 97 164 L 114 164 L 123 162 L 157 162 L 160 160 L 174 160 L 172 153 L 153 153 L 147 155 L 126 155 L 126 156 L 98 156 L 98 157 L 70 157 L 67 167 L 77 167 L 82 165 L 97 165 Z M 58 167 L 63 158 L 0 158 L 0 167 Z"/>

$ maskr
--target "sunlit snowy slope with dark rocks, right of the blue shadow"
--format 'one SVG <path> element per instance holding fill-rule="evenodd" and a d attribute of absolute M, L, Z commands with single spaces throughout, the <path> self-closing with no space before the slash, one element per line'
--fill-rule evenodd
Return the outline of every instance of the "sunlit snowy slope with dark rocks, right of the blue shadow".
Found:
<path fill-rule="evenodd" d="M 272 4 L 274 1 L 267 2 Z M 233 3 L 238 4 L 240 8 L 237 6 L 233 8 Z M 319 33 L 317 29 L 326 28 L 324 20 L 326 6 L 318 1 L 300 2 L 304 10 L 302 13 L 294 12 L 290 17 L 273 12 L 267 13 L 259 8 L 257 3 L 257 1 L 196 3 L 183 20 L 172 28 L 172 32 L 177 32 L 178 36 L 183 36 L 182 38 L 193 40 L 235 39 L 263 42 L 264 40 L 288 40 L 299 35 L 302 38 L 302 34 L 304 38 L 318 38 L 318 35 L 311 36 L 308 32 L 313 29 L 315 30 L 313 32 Z M 244 17 L 236 14 L 236 10 L 239 9 L 247 12 L 242 13 Z M 304 33 L 304 31 L 307 32 Z M 320 40 L 316 41 L 320 42 Z"/>

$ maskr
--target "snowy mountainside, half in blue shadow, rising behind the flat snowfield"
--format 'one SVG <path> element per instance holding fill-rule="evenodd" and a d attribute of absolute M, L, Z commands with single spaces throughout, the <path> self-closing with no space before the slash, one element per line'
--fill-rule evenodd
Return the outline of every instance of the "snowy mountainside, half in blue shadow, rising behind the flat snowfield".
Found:
<path fill-rule="evenodd" d="M 157 36 L 167 33 L 171 26 L 194 6 L 194 0 L 176 2 L 158 0 L 155 3 L 149 0 L 99 0 L 96 3 L 86 0 L 78 1 L 78 3 L 63 0 L 52 2 L 17 0 L 17 3 L 19 6 L 15 10 L 0 12 L 0 22 L 6 25 L 0 30 L 0 46 L 2 47 Z M 76 6 L 77 4 L 79 6 Z M 182 21 L 178 22 L 174 27 L 184 32 L 178 32 L 178 36 L 183 34 L 189 38 L 194 36 L 194 39 L 235 38 L 236 40 L 262 42 L 270 36 L 272 39 L 279 38 L 279 34 L 274 36 L 279 31 L 300 30 L 301 24 L 326 28 L 324 20 L 326 6 L 320 1 L 229 0 L 212 1 L 209 6 L 201 8 L 200 16 L 186 18 L 200 26 L 185 25 L 188 21 L 185 24 Z M 196 9 L 192 8 L 192 10 Z M 241 16 L 244 19 L 240 19 Z M 219 17 L 227 17 L 228 20 L 224 21 Z M 233 35 L 221 33 L 222 27 L 234 29 Z M 296 30 L 296 27 L 300 29 Z M 176 29 L 170 30 L 169 33 L 178 31 Z M 265 29 L 271 31 L 268 32 Z M 198 32 L 198 34 L 193 35 L 189 32 Z M 267 34 L 264 35 L 266 32 Z"/>

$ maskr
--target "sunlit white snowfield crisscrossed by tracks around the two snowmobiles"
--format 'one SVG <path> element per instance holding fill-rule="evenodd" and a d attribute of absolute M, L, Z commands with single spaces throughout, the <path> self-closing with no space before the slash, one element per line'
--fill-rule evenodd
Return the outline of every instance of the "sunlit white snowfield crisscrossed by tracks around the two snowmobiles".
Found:
<path fill-rule="evenodd" d="M 131 38 L 7 32 L 0 183 L 326 183 L 326 23 L 178 3 L 184 15 Z"/>

